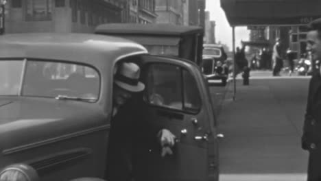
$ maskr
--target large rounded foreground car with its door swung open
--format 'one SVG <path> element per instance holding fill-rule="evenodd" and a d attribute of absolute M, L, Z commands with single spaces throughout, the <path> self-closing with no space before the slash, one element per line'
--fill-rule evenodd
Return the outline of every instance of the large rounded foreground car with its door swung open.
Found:
<path fill-rule="evenodd" d="M 154 144 L 142 144 L 137 160 L 146 162 L 137 163 L 136 180 L 218 180 L 217 120 L 198 66 L 95 34 L 0 37 L 0 178 L 104 178 L 121 62 L 141 67 L 146 88 L 136 104 L 146 108 L 146 119 L 179 141 L 166 158 Z"/>

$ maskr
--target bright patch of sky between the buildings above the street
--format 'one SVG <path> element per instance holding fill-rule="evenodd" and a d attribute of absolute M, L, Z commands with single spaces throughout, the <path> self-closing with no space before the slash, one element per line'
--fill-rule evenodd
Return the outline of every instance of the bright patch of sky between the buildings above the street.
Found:
<path fill-rule="evenodd" d="M 216 24 L 216 43 L 221 41 L 232 50 L 232 27 L 230 27 L 225 12 L 221 8 L 220 0 L 206 0 L 206 11 L 210 12 L 210 19 Z M 248 40 L 249 33 L 247 27 L 235 27 L 235 47 L 241 46 L 241 40 Z"/>

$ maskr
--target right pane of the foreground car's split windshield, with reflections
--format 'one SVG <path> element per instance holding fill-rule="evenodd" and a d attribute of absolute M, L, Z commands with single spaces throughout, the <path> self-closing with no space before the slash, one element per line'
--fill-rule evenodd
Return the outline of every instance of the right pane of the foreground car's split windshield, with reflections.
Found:
<path fill-rule="evenodd" d="M 99 74 L 92 67 L 67 62 L 28 60 L 23 81 L 24 96 L 99 97 Z"/>

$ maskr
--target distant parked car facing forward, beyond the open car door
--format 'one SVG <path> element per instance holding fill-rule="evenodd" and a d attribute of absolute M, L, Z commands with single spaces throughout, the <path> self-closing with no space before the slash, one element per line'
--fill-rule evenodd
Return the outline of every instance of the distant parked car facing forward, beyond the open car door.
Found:
<path fill-rule="evenodd" d="M 228 79 L 228 62 L 222 45 L 204 44 L 202 71 L 208 80 L 221 80 L 226 85 Z"/>

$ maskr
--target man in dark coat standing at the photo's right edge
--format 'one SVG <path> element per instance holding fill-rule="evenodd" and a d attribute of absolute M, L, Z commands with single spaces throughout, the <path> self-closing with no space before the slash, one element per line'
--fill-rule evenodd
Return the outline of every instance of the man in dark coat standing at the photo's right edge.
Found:
<path fill-rule="evenodd" d="M 321 60 L 321 19 L 309 24 L 307 51 L 312 60 Z M 321 180 L 321 75 L 313 74 L 309 83 L 307 110 L 302 134 L 302 149 L 309 151 L 308 181 Z"/>

